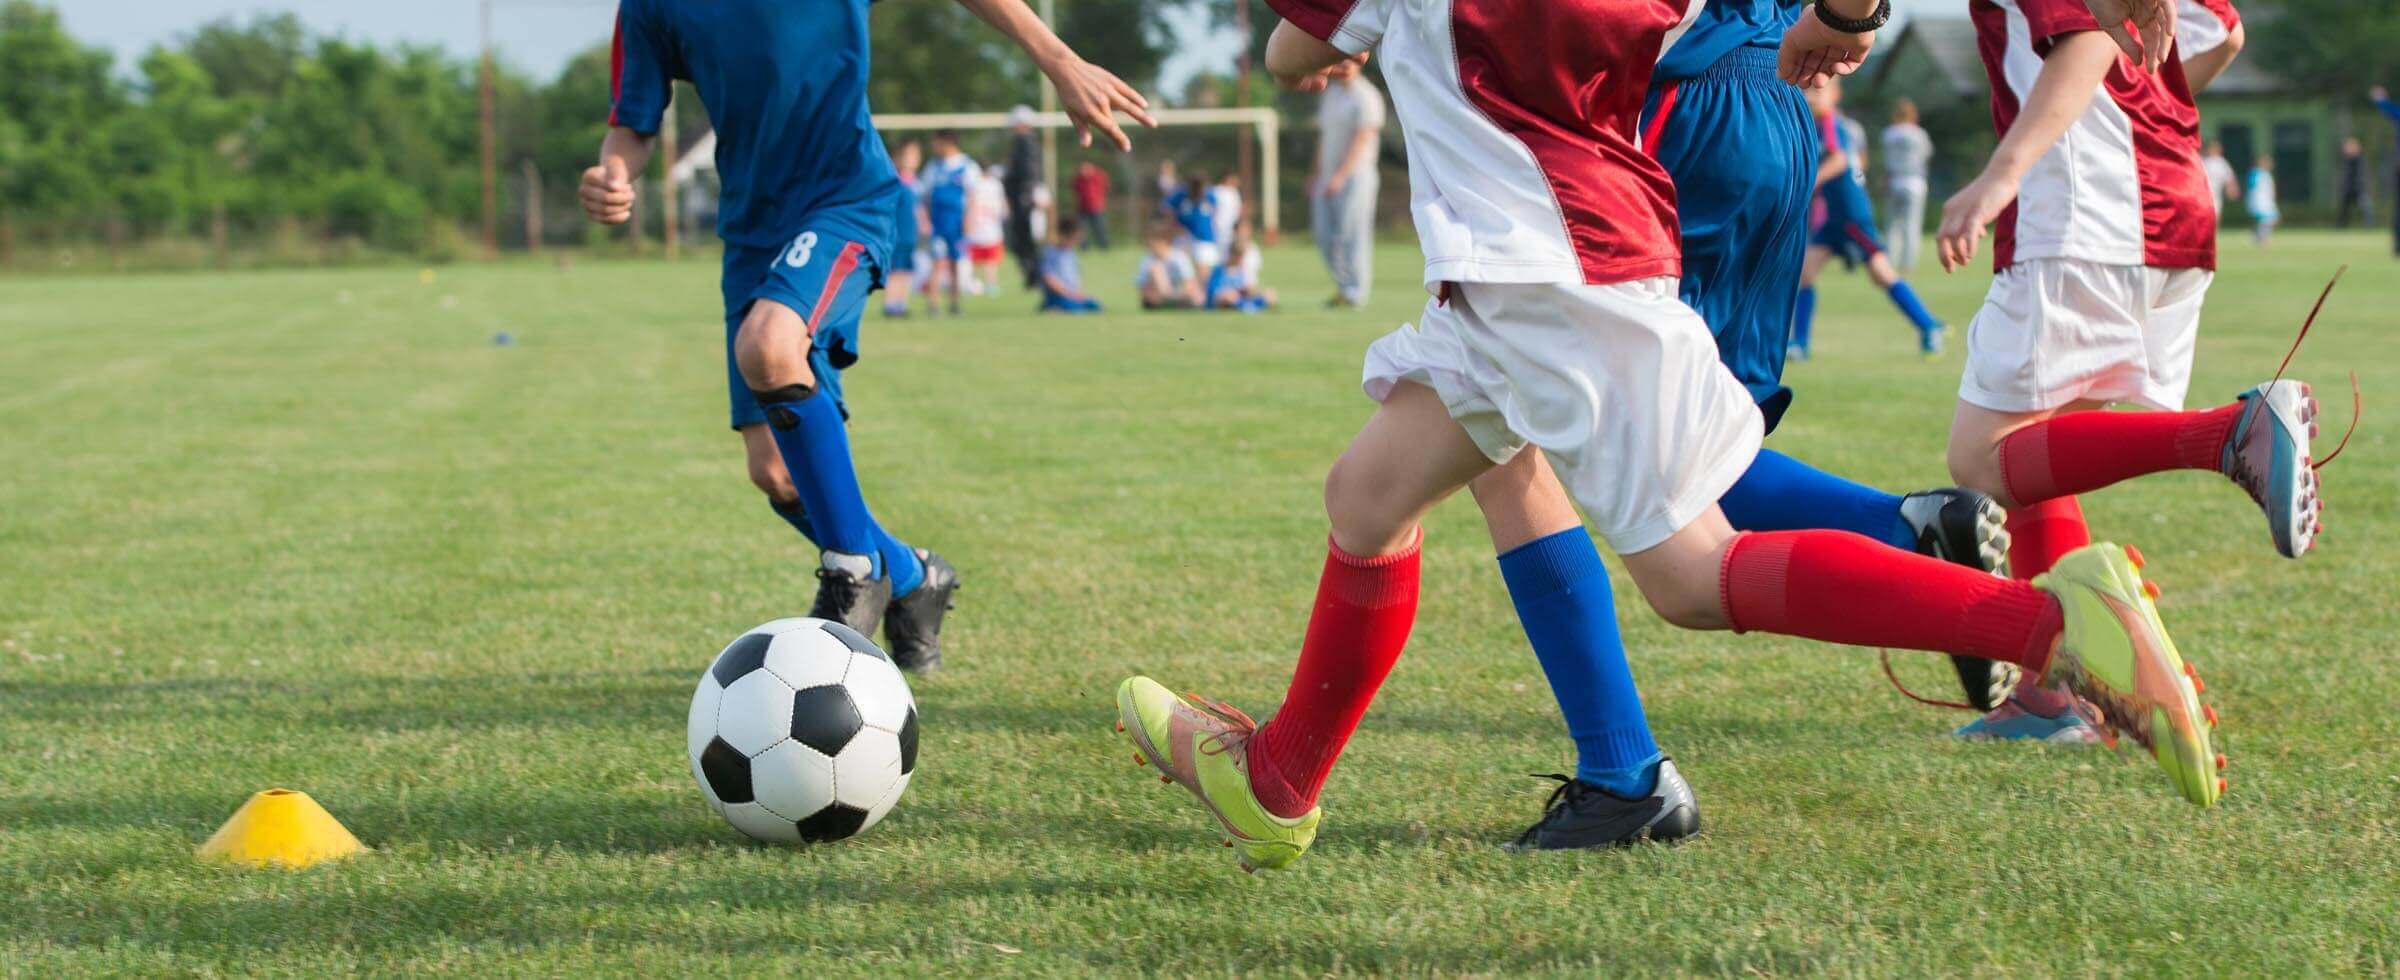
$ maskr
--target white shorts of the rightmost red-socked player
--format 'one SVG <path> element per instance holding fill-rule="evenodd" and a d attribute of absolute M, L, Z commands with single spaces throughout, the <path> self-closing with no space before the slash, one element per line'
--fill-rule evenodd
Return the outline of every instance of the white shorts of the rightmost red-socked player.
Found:
<path fill-rule="evenodd" d="M 2208 269 L 2026 259 L 1992 279 L 1966 334 L 1958 401 L 2050 411 L 2126 401 L 2182 411 Z"/>

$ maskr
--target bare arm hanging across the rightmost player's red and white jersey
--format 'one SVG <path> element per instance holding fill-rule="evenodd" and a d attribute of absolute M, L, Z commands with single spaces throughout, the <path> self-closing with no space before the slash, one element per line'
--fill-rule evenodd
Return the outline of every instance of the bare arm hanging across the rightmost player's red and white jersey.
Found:
<path fill-rule="evenodd" d="M 1942 204 L 1942 231 L 1934 235 L 1942 252 L 1942 269 L 1958 269 L 1975 259 L 1982 231 L 1999 221 L 1999 211 L 2016 199 L 2016 187 L 2026 171 L 2059 144 L 2066 127 L 2083 118 L 2100 91 L 2100 79 L 2117 65 L 2117 41 L 2100 31 L 2076 31 L 2052 38 L 2050 55 L 2042 58 L 2042 74 L 2033 79 L 2023 110 L 1999 139 L 1992 161 L 1985 163 L 1975 183 L 1961 187 Z"/>

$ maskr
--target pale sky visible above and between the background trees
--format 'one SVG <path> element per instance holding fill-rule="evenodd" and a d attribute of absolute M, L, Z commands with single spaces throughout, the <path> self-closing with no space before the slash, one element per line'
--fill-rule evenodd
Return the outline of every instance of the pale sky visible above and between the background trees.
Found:
<path fill-rule="evenodd" d="M 118 53 L 120 70 L 142 58 L 154 43 L 218 17 L 247 19 L 257 12 L 290 10 L 317 34 L 341 34 L 374 43 L 437 43 L 454 53 L 475 50 L 478 0 L 50 0 L 67 19 L 67 29 Z M 943 2 L 943 0 L 886 0 L 886 2 Z M 1075 2 L 1075 0 L 1061 0 Z M 1956 12 L 1958 0 L 1894 0 L 1894 10 L 1908 12 Z M 578 50 L 607 41 L 614 0 L 492 0 L 492 41 L 502 60 L 554 77 Z M 1164 70 L 1164 89 L 1178 91 L 1183 79 L 1198 70 L 1231 65 L 1236 36 L 1212 36 L 1188 53 L 1171 58 Z"/>

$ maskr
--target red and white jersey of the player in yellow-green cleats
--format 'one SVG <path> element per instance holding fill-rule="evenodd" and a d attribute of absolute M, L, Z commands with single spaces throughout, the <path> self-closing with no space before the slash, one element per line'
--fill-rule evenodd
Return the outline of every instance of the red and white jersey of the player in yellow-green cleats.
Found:
<path fill-rule="evenodd" d="M 1675 185 L 1634 130 L 1699 0 L 1267 5 L 1344 53 L 1378 50 L 1428 286 L 1682 274 Z"/>

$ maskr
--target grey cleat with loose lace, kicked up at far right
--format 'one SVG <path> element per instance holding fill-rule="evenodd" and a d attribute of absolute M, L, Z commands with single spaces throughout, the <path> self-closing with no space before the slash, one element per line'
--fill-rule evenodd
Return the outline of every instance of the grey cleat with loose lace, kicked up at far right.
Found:
<path fill-rule="evenodd" d="M 2266 382 L 2242 392 L 2242 416 L 2225 437 L 2218 471 L 2249 490 L 2266 512 L 2275 552 L 2299 557 L 2316 543 L 2323 502 L 2309 440 L 2316 437 L 2316 396 L 2302 382 Z"/>

